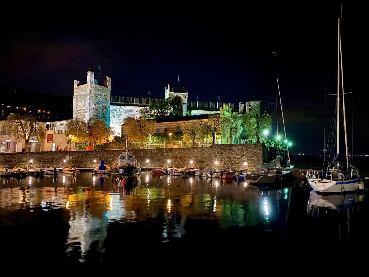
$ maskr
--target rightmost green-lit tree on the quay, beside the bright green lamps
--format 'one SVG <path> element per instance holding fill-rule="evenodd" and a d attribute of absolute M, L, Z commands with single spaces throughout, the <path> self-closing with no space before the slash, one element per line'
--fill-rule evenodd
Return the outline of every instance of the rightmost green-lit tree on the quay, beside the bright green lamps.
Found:
<path fill-rule="evenodd" d="M 272 129 L 272 117 L 266 112 L 261 116 L 257 113 L 245 113 L 242 116 L 242 121 L 247 130 L 247 137 L 256 143 L 260 143 L 260 137 L 264 137 L 263 131 Z"/>

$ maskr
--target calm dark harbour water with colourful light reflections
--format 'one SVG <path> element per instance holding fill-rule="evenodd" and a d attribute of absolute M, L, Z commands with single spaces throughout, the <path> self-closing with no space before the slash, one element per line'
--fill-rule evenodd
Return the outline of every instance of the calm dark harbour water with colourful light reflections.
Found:
<path fill-rule="evenodd" d="M 369 244 L 366 196 L 322 198 L 301 180 L 258 188 L 146 172 L 124 188 L 113 177 L 87 172 L 1 178 L 1 253 L 57 262 L 124 257 L 138 264 L 246 257 L 308 262 L 327 254 L 361 259 Z"/>

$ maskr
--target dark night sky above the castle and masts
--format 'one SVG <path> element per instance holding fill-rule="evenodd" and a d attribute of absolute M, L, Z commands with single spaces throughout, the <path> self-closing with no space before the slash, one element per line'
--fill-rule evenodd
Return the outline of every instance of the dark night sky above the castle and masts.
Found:
<path fill-rule="evenodd" d="M 321 153 L 324 93 L 326 88 L 334 93 L 337 83 L 339 5 L 182 7 L 150 13 L 126 7 L 115 13 L 100 4 L 95 11 L 18 11 L 16 19 L 2 17 L 0 83 L 73 96 L 73 80 L 85 83 L 90 70 L 100 84 L 104 76 L 111 77 L 112 95 L 162 98 L 164 86 L 177 86 L 180 75 L 189 100 L 198 96 L 215 102 L 219 96 L 220 102 L 235 105 L 261 100 L 267 110 L 268 100 L 275 102 L 271 53 L 277 51 L 292 150 Z M 342 52 L 345 90 L 354 91 L 354 151 L 369 154 L 365 9 L 343 7 Z M 351 106 L 351 94 L 346 98 Z M 269 112 L 275 116 L 275 105 Z M 348 113 L 351 123 L 351 107 Z"/>

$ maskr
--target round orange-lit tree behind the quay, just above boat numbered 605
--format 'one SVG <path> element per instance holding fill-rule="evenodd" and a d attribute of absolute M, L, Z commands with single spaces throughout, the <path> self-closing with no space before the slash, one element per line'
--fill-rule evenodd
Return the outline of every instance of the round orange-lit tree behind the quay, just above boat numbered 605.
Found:
<path fill-rule="evenodd" d="M 135 119 L 128 117 L 124 120 L 124 127 L 127 128 L 127 136 L 132 141 L 140 141 L 140 149 L 143 148 L 144 140 L 149 134 L 154 132 L 155 121 L 148 120 L 145 116 Z"/>

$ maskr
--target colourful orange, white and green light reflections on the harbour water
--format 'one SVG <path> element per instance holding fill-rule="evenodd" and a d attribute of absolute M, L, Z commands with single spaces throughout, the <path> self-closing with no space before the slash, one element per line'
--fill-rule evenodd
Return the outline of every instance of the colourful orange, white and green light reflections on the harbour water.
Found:
<path fill-rule="evenodd" d="M 91 249 L 94 249 L 93 253 L 108 251 L 111 247 L 108 236 L 118 228 L 123 233 L 127 228 L 137 231 L 143 228 L 141 223 L 148 232 L 157 233 L 155 236 L 166 244 L 198 237 L 206 241 L 206 236 L 211 236 L 212 232 L 218 234 L 219 230 L 222 230 L 221 235 L 225 234 L 223 240 L 231 237 L 243 241 L 247 232 L 261 237 L 265 232 L 273 232 L 282 243 L 284 237 L 294 237 L 305 231 L 295 226 L 294 220 L 309 215 L 306 212 L 309 196 L 301 182 L 292 187 L 259 188 L 247 182 L 151 177 L 142 172 L 134 186 L 122 187 L 111 176 L 82 172 L 77 177 L 60 174 L 46 178 L 2 178 L 0 184 L 3 228 L 16 223 L 14 213 L 24 214 L 23 223 L 28 224 L 30 212 L 42 216 L 46 211 L 60 209 L 62 216 L 54 224 L 68 223 L 69 226 L 64 253 L 74 255 L 80 261 L 89 259 Z M 297 199 L 296 208 L 291 205 L 291 197 Z M 287 223 L 292 227 L 288 228 Z M 204 229 L 210 233 L 205 235 Z M 297 233 L 290 232 L 289 235 L 289 229 Z M 148 241 L 151 240 L 153 238 L 149 237 Z"/>

